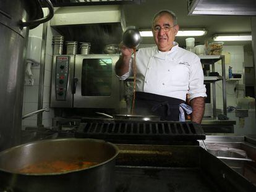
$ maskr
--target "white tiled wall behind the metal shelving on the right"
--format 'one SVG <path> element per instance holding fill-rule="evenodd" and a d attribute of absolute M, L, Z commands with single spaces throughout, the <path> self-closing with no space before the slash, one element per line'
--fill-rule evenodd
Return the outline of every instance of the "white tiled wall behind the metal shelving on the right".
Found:
<path fill-rule="evenodd" d="M 230 63 L 225 65 L 226 78 L 228 78 L 228 68 L 233 67 L 233 73 L 244 72 L 244 46 L 223 46 L 223 51 L 230 53 Z M 215 63 L 215 71 L 222 73 L 221 62 Z M 237 89 L 237 83 L 244 87 L 244 77 L 239 81 L 226 81 L 227 106 L 237 106 L 237 99 L 244 97 L 244 90 L 241 86 Z M 236 88 L 236 91 L 234 89 Z M 223 86 L 222 81 L 216 82 L 216 107 L 223 109 Z"/>

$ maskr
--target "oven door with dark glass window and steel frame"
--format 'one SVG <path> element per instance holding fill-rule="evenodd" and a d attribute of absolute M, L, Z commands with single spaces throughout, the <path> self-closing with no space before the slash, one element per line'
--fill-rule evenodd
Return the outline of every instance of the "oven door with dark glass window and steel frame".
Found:
<path fill-rule="evenodd" d="M 75 58 L 74 107 L 116 108 L 119 80 L 114 72 L 118 55 L 91 54 Z"/>

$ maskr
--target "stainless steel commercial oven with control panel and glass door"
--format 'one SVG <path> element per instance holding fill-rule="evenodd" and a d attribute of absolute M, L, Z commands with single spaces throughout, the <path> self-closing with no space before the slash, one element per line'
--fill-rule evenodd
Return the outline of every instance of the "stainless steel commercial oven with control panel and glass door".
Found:
<path fill-rule="evenodd" d="M 57 55 L 53 58 L 51 107 L 117 109 L 122 83 L 118 54 Z"/>

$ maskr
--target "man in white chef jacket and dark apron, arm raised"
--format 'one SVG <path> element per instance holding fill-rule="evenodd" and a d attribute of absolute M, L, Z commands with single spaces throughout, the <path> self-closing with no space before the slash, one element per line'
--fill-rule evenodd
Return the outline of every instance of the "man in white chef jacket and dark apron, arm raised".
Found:
<path fill-rule="evenodd" d="M 134 112 L 174 121 L 184 121 L 184 112 L 192 112 L 192 122 L 201 123 L 207 96 L 202 64 L 197 55 L 174 41 L 178 31 L 177 17 L 172 11 L 160 10 L 153 17 L 156 46 L 136 52 Z M 116 75 L 121 80 L 133 74 L 132 53 L 132 49 L 121 44 L 121 56 L 116 62 Z M 191 107 L 185 104 L 186 99 Z"/>

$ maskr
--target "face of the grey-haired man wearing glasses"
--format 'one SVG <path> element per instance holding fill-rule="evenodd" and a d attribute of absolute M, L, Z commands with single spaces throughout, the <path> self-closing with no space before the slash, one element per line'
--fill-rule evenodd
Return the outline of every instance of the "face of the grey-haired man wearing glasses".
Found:
<path fill-rule="evenodd" d="M 171 50 L 177 31 L 179 31 L 179 25 L 174 26 L 171 15 L 165 13 L 156 17 L 152 25 L 152 32 L 160 51 Z"/>

